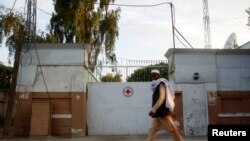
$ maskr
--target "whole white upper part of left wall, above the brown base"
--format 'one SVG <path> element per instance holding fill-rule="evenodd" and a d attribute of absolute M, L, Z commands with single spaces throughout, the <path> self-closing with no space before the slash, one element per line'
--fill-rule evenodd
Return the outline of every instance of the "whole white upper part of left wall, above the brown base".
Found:
<path fill-rule="evenodd" d="M 97 81 L 84 66 L 83 45 L 31 44 L 29 47 L 25 50 L 25 45 L 22 52 L 16 91 L 86 92 L 87 83 Z"/>

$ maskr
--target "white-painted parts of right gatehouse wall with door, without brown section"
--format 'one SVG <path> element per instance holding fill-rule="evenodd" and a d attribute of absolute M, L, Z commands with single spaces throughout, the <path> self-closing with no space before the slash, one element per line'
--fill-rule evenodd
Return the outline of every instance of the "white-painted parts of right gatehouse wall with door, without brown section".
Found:
<path fill-rule="evenodd" d="M 185 135 L 206 135 L 208 93 L 250 90 L 249 49 L 170 49 L 165 56 L 174 68 L 170 81 L 183 94 Z"/>

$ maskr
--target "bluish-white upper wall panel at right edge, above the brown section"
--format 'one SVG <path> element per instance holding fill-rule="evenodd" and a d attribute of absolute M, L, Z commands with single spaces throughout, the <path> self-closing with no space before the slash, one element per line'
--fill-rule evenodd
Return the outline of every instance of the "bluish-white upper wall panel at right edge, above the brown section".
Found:
<path fill-rule="evenodd" d="M 250 55 L 221 54 L 217 56 L 218 90 L 250 90 Z"/>

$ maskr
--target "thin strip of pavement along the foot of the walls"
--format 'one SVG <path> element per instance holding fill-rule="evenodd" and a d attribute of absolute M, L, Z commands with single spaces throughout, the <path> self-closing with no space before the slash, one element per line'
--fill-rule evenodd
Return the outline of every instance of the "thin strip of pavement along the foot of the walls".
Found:
<path fill-rule="evenodd" d="M 60 137 L 30 137 L 30 138 L 11 138 L 0 139 L 1 141 L 145 141 L 146 135 L 130 135 L 130 136 L 87 136 L 83 138 L 60 138 Z M 160 135 L 156 141 L 174 141 L 170 136 Z M 184 141 L 207 141 L 206 136 L 187 137 Z"/>

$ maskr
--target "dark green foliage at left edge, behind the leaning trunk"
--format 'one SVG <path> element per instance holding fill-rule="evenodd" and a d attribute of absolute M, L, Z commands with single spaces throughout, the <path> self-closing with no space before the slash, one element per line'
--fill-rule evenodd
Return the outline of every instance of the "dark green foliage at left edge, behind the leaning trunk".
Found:
<path fill-rule="evenodd" d="M 0 63 L 0 89 L 10 89 L 13 69 Z"/>

